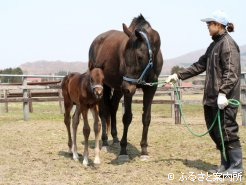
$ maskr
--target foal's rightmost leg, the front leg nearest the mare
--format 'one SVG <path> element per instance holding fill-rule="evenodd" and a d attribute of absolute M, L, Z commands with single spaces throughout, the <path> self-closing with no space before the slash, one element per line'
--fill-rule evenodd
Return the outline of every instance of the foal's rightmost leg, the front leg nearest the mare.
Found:
<path fill-rule="evenodd" d="M 100 164 L 100 147 L 99 140 L 101 137 L 101 123 L 99 121 L 99 107 L 98 105 L 94 106 L 91 109 L 93 118 L 94 118 L 94 132 L 95 132 L 95 159 L 94 164 Z"/>

